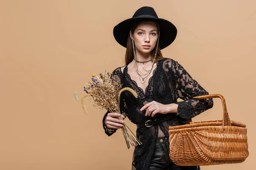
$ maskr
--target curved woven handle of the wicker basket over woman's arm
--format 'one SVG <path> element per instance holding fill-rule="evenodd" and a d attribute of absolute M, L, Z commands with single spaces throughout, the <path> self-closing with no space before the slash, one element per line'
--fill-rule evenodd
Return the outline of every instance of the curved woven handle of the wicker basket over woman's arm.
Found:
<path fill-rule="evenodd" d="M 221 94 L 209 94 L 204 96 L 195 96 L 194 99 L 208 99 L 208 98 L 221 98 L 223 107 L 223 121 L 222 126 L 231 126 L 230 118 L 227 113 L 227 106 L 224 97 Z"/>

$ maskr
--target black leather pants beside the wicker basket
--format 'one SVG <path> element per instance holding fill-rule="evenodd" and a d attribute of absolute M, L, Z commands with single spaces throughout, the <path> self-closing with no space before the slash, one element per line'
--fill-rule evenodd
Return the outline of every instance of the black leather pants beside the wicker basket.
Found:
<path fill-rule="evenodd" d="M 169 157 L 168 138 L 157 138 L 157 143 L 149 164 L 149 170 L 200 170 L 199 166 L 177 166 Z"/>

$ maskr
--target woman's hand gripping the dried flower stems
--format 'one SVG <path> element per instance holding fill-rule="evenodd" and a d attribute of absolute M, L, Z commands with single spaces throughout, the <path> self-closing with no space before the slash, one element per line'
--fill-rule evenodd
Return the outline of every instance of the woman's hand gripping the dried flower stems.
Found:
<path fill-rule="evenodd" d="M 108 115 L 105 118 L 105 125 L 108 128 L 112 128 L 112 129 L 120 129 L 124 123 L 124 121 L 122 121 L 121 119 L 117 119 L 115 117 L 119 117 L 120 114 L 119 113 L 108 113 Z M 123 116 L 121 114 L 122 119 L 125 119 L 125 116 Z"/>

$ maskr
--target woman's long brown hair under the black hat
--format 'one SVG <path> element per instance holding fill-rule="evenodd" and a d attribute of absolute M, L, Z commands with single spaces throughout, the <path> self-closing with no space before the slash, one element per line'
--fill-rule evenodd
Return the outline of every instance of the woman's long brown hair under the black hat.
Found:
<path fill-rule="evenodd" d="M 159 32 L 159 25 L 158 23 L 156 23 L 155 21 L 153 20 L 141 20 L 141 21 L 138 21 L 138 22 L 135 22 L 132 24 L 131 26 L 131 33 L 134 34 L 134 31 L 135 31 L 135 28 L 141 23 L 141 22 L 145 22 L 145 21 L 148 21 L 148 22 L 153 22 L 157 25 L 157 33 Z M 158 60 L 160 59 L 163 59 L 163 55 L 160 51 L 160 47 L 158 45 L 158 48 L 157 48 L 157 45 L 155 45 L 154 49 L 151 51 L 151 59 L 153 61 L 154 59 L 154 54 L 157 50 L 157 55 L 156 55 L 156 59 L 155 59 L 155 62 L 157 62 Z M 133 48 L 132 48 L 132 40 L 130 38 L 130 34 L 128 35 L 128 40 L 127 40 L 127 45 L 126 45 L 126 53 L 125 53 L 125 65 L 128 65 L 130 62 L 132 62 L 132 60 L 134 59 L 134 53 L 133 53 Z"/>

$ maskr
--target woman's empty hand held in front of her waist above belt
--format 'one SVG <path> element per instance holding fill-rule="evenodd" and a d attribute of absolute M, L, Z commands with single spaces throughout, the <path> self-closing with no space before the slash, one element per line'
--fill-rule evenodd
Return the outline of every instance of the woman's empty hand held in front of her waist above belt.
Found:
<path fill-rule="evenodd" d="M 176 113 L 178 105 L 175 103 L 169 105 L 163 105 L 159 102 L 152 101 L 145 104 L 140 111 L 146 110 L 145 116 L 154 116 L 156 113 L 166 114 L 166 113 Z"/>

